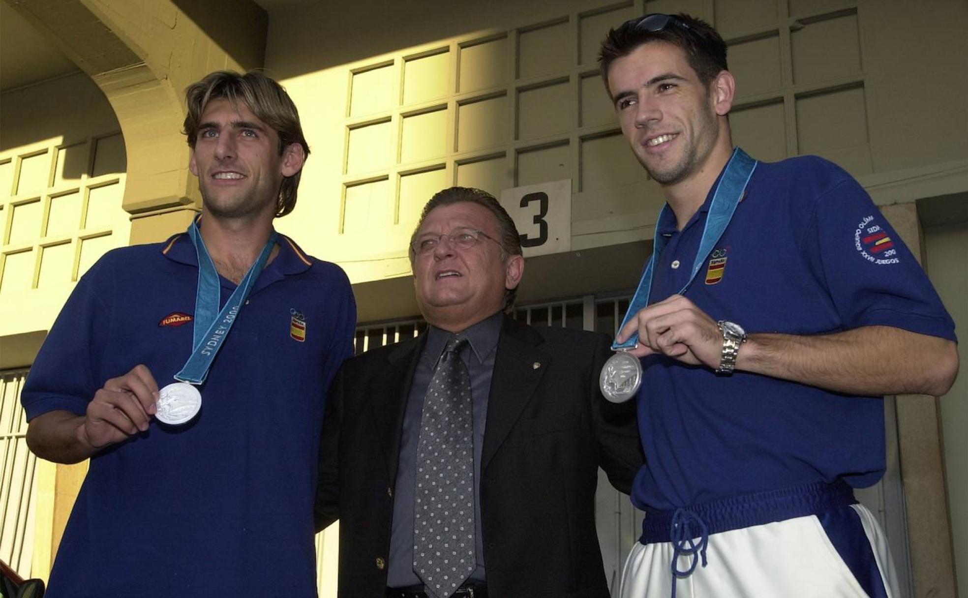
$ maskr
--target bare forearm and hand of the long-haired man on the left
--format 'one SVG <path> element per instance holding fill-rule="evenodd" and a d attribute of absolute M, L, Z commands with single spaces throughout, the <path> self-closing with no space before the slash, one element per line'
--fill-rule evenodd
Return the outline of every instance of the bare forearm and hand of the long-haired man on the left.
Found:
<path fill-rule="evenodd" d="M 84 415 L 56 409 L 30 420 L 27 446 L 54 463 L 78 463 L 106 446 L 144 432 L 157 410 L 158 384 L 145 367 L 111 378 Z"/>

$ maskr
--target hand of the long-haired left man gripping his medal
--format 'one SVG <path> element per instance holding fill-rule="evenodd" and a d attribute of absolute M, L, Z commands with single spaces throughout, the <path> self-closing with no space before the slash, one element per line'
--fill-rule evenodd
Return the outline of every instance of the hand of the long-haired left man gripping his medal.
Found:
<path fill-rule="evenodd" d="M 111 378 L 87 404 L 84 425 L 77 429 L 77 439 L 99 450 L 145 432 L 151 416 L 157 411 L 158 383 L 147 367 L 135 366 L 131 372 Z"/>

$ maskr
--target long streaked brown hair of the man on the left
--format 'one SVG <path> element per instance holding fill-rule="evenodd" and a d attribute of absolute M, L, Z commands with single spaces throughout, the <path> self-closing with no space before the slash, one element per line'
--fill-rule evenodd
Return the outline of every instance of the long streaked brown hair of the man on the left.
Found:
<path fill-rule="evenodd" d="M 289 98 L 286 89 L 274 79 L 256 71 L 240 75 L 234 71 L 216 71 L 189 85 L 185 90 L 188 113 L 182 133 L 188 136 L 193 150 L 201 124 L 201 114 L 212 100 L 228 100 L 232 104 L 242 102 L 257 118 L 272 127 L 279 135 L 279 155 L 292 143 L 302 146 L 309 157 L 309 144 L 299 124 L 299 111 Z M 276 198 L 276 217 L 286 216 L 296 206 L 296 191 L 302 169 L 283 179 Z"/>

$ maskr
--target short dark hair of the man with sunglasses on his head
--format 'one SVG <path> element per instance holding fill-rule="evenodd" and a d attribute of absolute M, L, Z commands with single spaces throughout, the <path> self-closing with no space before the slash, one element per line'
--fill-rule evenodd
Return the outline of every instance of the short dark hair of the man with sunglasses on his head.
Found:
<path fill-rule="evenodd" d="M 679 46 L 692 70 L 704 85 L 709 85 L 726 66 L 726 43 L 706 21 L 685 13 L 670 15 L 672 20 L 659 31 L 648 31 L 640 23 L 651 15 L 631 18 L 615 29 L 610 29 L 602 41 L 598 54 L 599 69 L 605 88 L 608 86 L 608 70 L 612 63 L 632 53 L 635 48 L 650 42 L 665 42 Z M 675 19 L 679 19 L 677 23 Z"/>

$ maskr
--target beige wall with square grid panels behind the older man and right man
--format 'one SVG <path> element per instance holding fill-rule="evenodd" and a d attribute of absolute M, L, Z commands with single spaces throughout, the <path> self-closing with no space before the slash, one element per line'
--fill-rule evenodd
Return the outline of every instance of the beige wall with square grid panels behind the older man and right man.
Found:
<path fill-rule="evenodd" d="M 489 191 L 499 192 L 572 179 L 573 250 L 649 239 L 659 190 L 617 135 L 591 75 L 595 46 L 609 25 L 673 10 L 713 20 L 730 43 L 739 78 L 733 129 L 754 155 L 818 153 L 882 186 L 908 180 L 912 171 L 951 169 L 939 164 L 963 169 L 968 161 L 968 119 L 952 118 L 963 113 L 968 95 L 968 78 L 958 75 L 968 70 L 961 35 L 968 8 L 959 0 L 937 0 L 916 12 L 899 0 L 636 0 L 618 7 L 607 0 L 499 0 L 462 3 L 459 11 L 442 0 L 326 3 L 277 12 L 270 22 L 266 69 L 300 106 L 313 147 L 300 204 L 280 228 L 310 253 L 341 263 L 353 283 L 407 276 L 415 210 L 433 191 L 464 182 L 462 161 L 493 152 L 499 158 L 478 163 L 479 172 L 464 168 L 464 180 L 492 182 Z M 505 35 L 517 49 L 475 63 L 506 75 L 506 83 L 488 88 L 505 95 L 466 104 L 475 94 L 457 89 L 464 72 L 455 65 L 473 58 L 464 45 L 489 35 Z M 430 58 L 412 59 L 441 49 L 449 52 L 433 60 L 448 75 L 425 75 L 422 89 L 440 91 L 420 98 L 406 84 L 407 69 L 430 65 Z M 928 62 L 949 76 L 924 77 Z M 377 82 L 369 80 L 376 71 L 360 73 L 382 64 L 391 66 Z M 353 86 L 365 85 L 369 93 L 353 95 Z M 420 131 L 435 139 L 418 139 L 423 147 L 415 149 L 407 145 L 407 128 L 419 120 L 411 111 L 423 112 Z M 483 139 L 479 145 L 487 149 L 465 151 L 465 135 Z M 540 151 L 525 151 L 533 148 Z M 417 159 L 408 163 L 409 156 Z M 429 171 L 406 176 L 421 169 Z M 385 183 L 367 180 L 387 175 Z"/>

